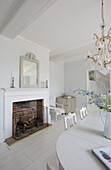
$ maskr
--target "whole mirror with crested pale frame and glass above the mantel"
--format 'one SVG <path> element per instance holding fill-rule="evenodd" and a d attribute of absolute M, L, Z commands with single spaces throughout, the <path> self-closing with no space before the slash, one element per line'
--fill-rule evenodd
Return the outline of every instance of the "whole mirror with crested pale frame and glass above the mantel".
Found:
<path fill-rule="evenodd" d="M 20 56 L 20 87 L 39 87 L 39 61 L 33 53 Z"/>

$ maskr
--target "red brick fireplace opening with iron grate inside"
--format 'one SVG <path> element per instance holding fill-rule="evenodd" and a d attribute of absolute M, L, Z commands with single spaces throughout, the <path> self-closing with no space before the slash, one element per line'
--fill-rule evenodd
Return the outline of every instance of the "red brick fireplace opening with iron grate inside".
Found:
<path fill-rule="evenodd" d="M 48 108 L 43 103 L 43 99 L 13 103 L 14 139 L 22 139 L 48 126 Z"/>

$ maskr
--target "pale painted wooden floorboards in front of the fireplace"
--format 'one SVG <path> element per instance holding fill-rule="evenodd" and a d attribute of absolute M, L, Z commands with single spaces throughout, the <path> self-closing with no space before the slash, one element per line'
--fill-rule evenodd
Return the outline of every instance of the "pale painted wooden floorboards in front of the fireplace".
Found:
<path fill-rule="evenodd" d="M 58 165 L 56 141 L 63 131 L 63 118 L 59 117 L 53 126 L 11 147 L 0 144 L 0 170 L 46 170 L 46 162 Z"/>

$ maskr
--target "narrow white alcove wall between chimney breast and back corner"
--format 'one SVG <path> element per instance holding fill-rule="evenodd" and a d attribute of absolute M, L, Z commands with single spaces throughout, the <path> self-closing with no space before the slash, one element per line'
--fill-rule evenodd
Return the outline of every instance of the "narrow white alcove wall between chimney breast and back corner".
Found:
<path fill-rule="evenodd" d="M 50 97 L 64 93 L 64 63 L 50 61 Z"/>

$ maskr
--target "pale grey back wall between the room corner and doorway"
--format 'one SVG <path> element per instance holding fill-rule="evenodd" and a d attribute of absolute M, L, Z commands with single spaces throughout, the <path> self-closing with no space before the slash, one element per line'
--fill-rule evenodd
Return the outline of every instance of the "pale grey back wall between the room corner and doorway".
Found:
<path fill-rule="evenodd" d="M 84 60 L 66 63 L 64 65 L 64 92 L 76 96 L 76 108 L 81 108 L 86 97 L 73 94 L 72 89 L 86 89 L 86 63 Z"/>

